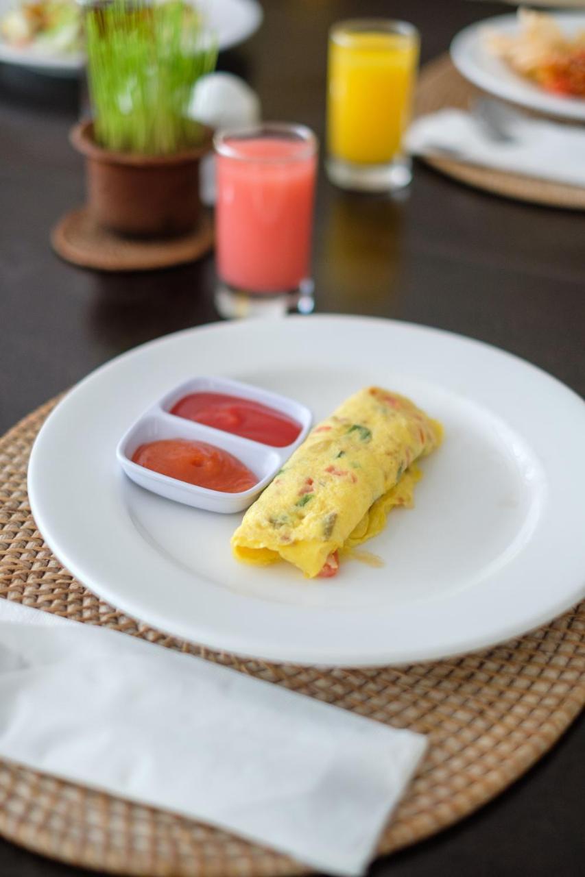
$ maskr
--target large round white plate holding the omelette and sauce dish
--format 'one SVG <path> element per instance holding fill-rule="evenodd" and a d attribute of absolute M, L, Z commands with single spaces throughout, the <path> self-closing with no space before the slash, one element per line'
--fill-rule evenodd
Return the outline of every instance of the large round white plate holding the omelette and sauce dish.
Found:
<path fill-rule="evenodd" d="M 327 415 L 379 383 L 443 421 L 414 510 L 392 512 L 335 579 L 231 556 L 241 515 L 148 493 L 124 476 L 119 437 L 194 372 L 291 396 Z M 29 495 L 61 562 L 120 610 L 179 638 L 256 658 L 400 664 L 492 645 L 585 594 L 585 404 L 480 342 L 361 317 L 290 317 L 179 332 L 97 369 L 32 449 Z"/>

